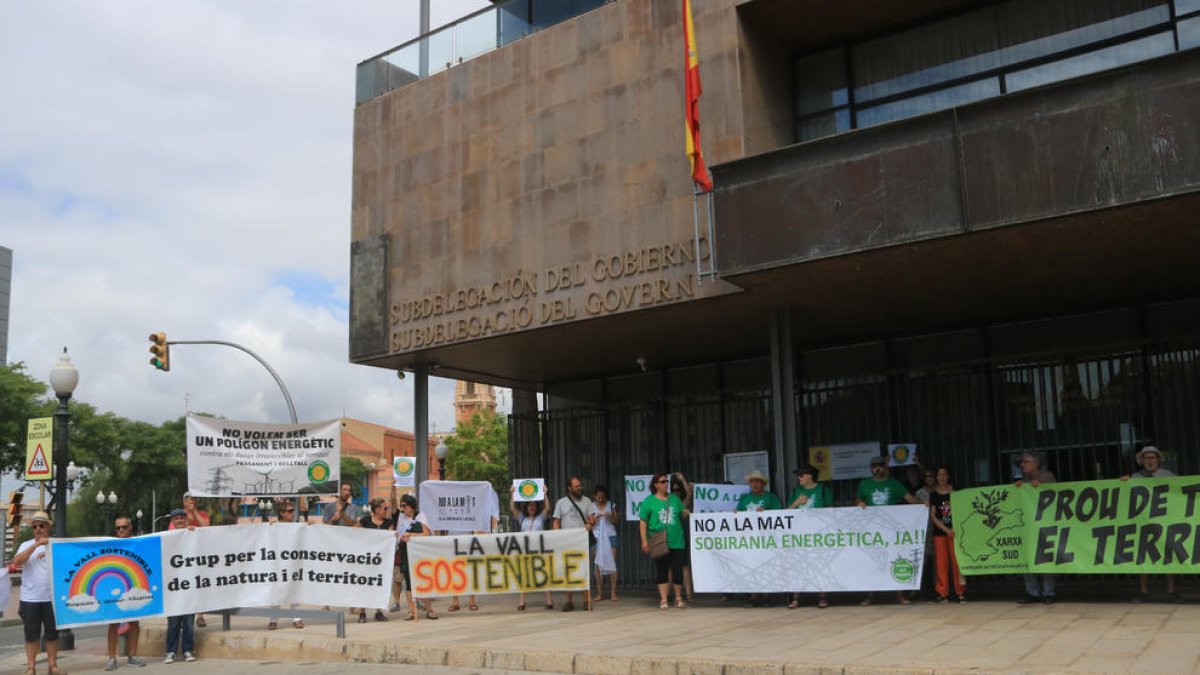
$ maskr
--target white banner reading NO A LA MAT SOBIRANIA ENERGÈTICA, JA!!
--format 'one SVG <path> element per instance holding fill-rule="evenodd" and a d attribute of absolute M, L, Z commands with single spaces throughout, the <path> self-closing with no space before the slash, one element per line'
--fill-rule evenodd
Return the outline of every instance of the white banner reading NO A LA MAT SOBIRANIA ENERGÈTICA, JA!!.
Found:
<path fill-rule="evenodd" d="M 916 591 L 929 508 L 694 514 L 696 592 Z"/>

